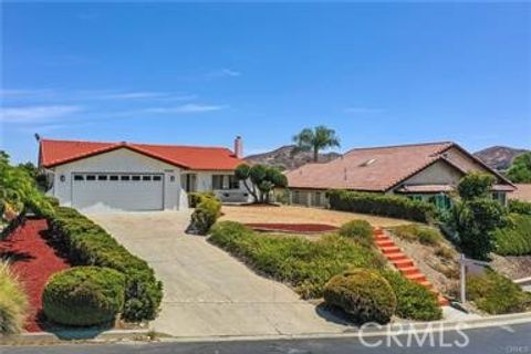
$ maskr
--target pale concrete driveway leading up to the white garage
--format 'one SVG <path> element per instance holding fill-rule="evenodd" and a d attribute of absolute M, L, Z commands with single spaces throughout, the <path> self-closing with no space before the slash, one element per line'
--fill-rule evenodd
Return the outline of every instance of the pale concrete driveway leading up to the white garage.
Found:
<path fill-rule="evenodd" d="M 90 215 L 164 282 L 158 332 L 176 336 L 333 333 L 347 329 L 317 314 L 290 288 L 262 278 L 205 238 L 184 232 L 188 212 Z"/>

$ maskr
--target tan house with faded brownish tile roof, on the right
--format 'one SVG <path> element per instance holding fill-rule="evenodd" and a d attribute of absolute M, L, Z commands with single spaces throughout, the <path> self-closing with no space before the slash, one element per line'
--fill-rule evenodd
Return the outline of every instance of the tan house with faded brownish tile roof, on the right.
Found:
<path fill-rule="evenodd" d="M 354 148 L 326 164 L 285 173 L 292 204 L 325 206 L 327 189 L 397 194 L 448 208 L 448 194 L 467 173 L 496 177 L 493 196 L 506 202 L 514 186 L 455 143 Z"/>

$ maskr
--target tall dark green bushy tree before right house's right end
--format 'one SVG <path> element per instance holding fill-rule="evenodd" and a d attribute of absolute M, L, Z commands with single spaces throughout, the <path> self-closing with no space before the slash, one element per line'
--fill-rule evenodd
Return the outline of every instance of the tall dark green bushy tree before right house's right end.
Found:
<path fill-rule="evenodd" d="M 449 226 L 465 254 L 488 259 L 496 248 L 494 231 L 506 223 L 506 209 L 492 199 L 494 178 L 485 174 L 469 174 L 458 185 L 459 199 L 450 210 Z"/>

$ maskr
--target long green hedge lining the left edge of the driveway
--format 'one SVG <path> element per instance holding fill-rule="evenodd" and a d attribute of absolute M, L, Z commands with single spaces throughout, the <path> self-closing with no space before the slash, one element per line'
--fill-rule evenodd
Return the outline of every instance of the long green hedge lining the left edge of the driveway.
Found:
<path fill-rule="evenodd" d="M 56 207 L 49 216 L 54 246 L 71 263 L 115 269 L 125 274 L 127 321 L 153 320 L 163 299 L 163 284 L 153 269 L 131 254 L 111 235 L 72 208 Z"/>

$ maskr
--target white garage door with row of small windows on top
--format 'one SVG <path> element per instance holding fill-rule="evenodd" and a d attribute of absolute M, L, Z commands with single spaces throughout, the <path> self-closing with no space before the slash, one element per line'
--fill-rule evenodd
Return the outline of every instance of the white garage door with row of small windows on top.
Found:
<path fill-rule="evenodd" d="M 159 174 L 72 174 L 72 204 L 86 211 L 162 210 L 164 176 Z"/>

